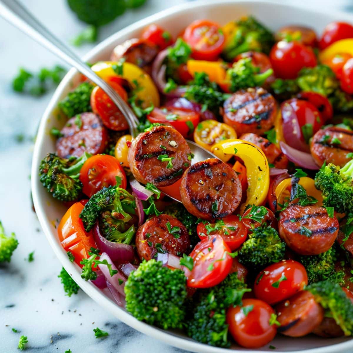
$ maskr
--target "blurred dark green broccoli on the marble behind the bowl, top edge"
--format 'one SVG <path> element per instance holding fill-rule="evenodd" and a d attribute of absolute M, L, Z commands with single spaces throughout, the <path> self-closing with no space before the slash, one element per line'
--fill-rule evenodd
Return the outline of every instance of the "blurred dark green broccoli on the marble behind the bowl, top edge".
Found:
<path fill-rule="evenodd" d="M 142 6 L 146 0 L 67 0 L 68 6 L 76 13 L 77 17 L 88 23 L 72 44 L 80 46 L 83 43 L 92 43 L 97 40 L 98 27 L 112 22 L 122 15 L 126 8 Z"/>

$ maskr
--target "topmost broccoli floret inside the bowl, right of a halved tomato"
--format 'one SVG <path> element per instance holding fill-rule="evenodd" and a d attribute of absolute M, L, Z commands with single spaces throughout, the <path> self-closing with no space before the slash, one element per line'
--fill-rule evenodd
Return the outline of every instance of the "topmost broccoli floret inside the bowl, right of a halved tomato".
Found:
<path fill-rule="evenodd" d="M 249 50 L 268 54 L 274 43 L 275 38 L 270 30 L 249 16 L 236 22 L 236 30 L 232 33 L 231 42 L 223 50 L 223 55 L 231 61 L 238 54 Z"/>

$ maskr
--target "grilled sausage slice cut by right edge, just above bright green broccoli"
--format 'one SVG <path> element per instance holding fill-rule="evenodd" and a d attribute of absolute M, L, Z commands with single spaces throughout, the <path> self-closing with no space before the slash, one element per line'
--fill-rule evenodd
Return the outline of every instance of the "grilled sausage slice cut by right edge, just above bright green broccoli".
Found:
<path fill-rule="evenodd" d="M 311 155 L 316 164 L 321 167 L 324 161 L 343 167 L 353 152 L 353 131 L 340 127 L 327 127 L 319 130 L 310 144 Z"/>

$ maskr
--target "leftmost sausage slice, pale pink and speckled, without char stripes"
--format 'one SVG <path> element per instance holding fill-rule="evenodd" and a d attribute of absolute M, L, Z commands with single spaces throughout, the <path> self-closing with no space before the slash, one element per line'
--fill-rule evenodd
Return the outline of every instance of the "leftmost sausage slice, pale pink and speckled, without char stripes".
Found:
<path fill-rule="evenodd" d="M 80 157 L 84 152 L 102 153 L 108 143 L 108 132 L 94 113 L 82 113 L 69 119 L 56 142 L 56 154 L 62 158 Z"/>

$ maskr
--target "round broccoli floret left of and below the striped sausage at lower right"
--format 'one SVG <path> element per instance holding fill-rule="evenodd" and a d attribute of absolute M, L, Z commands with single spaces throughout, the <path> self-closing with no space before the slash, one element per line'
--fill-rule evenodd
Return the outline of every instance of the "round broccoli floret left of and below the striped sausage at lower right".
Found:
<path fill-rule="evenodd" d="M 263 223 L 253 229 L 239 251 L 239 262 L 249 268 L 262 268 L 279 262 L 285 255 L 286 244 L 278 236 L 276 229 Z"/>

